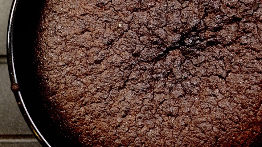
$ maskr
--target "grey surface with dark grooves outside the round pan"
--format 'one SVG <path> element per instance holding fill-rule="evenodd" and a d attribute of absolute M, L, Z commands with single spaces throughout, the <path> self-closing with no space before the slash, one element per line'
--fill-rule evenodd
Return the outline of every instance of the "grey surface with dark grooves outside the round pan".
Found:
<path fill-rule="evenodd" d="M 6 33 L 12 0 L 0 0 L 0 147 L 41 147 L 28 128 L 10 90 Z"/>

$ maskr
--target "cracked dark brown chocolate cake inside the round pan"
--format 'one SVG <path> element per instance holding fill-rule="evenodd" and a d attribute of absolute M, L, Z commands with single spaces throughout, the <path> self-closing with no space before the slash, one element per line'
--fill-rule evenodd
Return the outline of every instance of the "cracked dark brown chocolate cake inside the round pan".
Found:
<path fill-rule="evenodd" d="M 262 142 L 260 0 L 47 0 L 35 62 L 80 146 Z"/>

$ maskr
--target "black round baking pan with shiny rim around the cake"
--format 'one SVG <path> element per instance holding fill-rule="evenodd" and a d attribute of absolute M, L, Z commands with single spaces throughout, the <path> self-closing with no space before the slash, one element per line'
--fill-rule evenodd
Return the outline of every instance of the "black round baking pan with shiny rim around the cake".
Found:
<path fill-rule="evenodd" d="M 34 68 L 36 28 L 44 0 L 16 0 L 10 13 L 7 37 L 8 67 L 19 108 L 27 124 L 43 146 L 75 146 L 59 135 L 39 97 Z"/>

